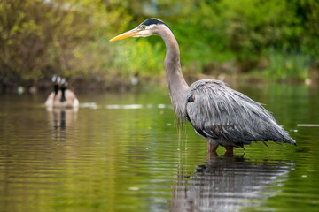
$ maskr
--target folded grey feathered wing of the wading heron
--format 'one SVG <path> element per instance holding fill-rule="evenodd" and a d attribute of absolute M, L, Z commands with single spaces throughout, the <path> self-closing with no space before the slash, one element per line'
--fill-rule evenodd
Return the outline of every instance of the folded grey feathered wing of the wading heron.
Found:
<path fill-rule="evenodd" d="M 193 96 L 193 101 L 187 101 L 186 111 L 195 131 L 205 138 L 221 140 L 225 147 L 243 147 L 251 141 L 293 141 L 260 103 L 222 81 L 198 80 L 187 95 Z"/>

